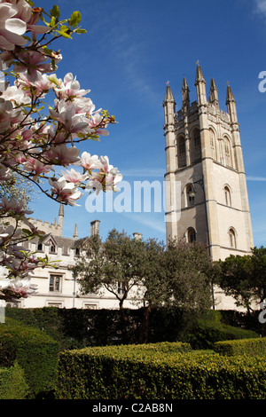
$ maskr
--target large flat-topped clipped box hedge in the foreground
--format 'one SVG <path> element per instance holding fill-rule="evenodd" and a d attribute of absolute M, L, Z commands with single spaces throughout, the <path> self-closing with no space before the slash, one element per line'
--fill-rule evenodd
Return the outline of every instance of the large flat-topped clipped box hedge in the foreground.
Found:
<path fill-rule="evenodd" d="M 262 358 L 230 358 L 200 350 L 182 352 L 182 345 L 179 349 L 168 348 L 128 345 L 60 352 L 56 397 L 266 398 L 266 364 Z"/>

